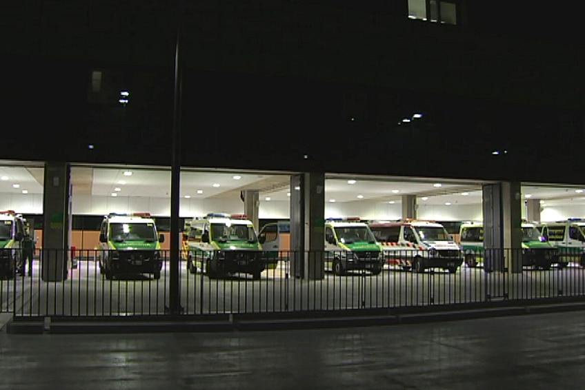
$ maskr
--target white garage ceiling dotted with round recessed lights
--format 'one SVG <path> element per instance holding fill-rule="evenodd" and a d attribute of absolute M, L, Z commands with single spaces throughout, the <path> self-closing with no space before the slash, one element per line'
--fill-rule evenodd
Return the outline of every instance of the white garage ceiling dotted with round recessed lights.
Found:
<path fill-rule="evenodd" d="M 126 176 L 125 171 L 131 171 Z M 72 167 L 73 196 L 145 196 L 170 198 L 171 172 L 157 167 Z M 235 176 L 239 176 L 236 179 Z M 42 194 L 43 167 L 34 164 L 0 165 L 0 193 Z M 348 180 L 355 180 L 355 184 Z M 436 187 L 438 183 L 441 187 Z M 18 185 L 18 187 L 14 187 Z M 219 185 L 219 187 L 214 187 Z M 290 176 L 275 172 L 181 171 L 181 196 L 191 198 L 239 198 L 241 190 L 260 191 L 261 201 L 288 201 Z M 526 183 L 522 197 L 541 199 L 548 205 L 585 205 L 583 187 Z M 198 191 L 201 193 L 199 194 Z M 579 191 L 579 192 L 577 192 Z M 417 202 L 432 205 L 482 203 L 482 182 L 438 178 L 395 178 L 326 174 L 326 201 L 336 203 L 377 201 L 399 203 L 402 195 L 414 194 Z M 361 198 L 358 198 L 361 196 Z M 424 200 L 423 197 L 428 197 Z"/>

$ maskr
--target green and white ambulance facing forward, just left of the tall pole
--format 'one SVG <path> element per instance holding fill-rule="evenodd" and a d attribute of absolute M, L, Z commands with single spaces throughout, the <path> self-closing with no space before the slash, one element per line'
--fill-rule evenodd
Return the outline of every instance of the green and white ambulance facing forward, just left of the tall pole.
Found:
<path fill-rule="evenodd" d="M 159 279 L 163 242 L 150 214 L 108 214 L 99 231 L 99 270 L 106 279 L 123 274 L 152 274 Z"/>

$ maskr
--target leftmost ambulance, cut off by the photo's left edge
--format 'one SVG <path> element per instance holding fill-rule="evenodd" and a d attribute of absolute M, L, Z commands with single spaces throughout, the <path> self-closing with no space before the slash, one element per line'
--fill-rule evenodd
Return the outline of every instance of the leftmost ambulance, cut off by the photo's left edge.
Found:
<path fill-rule="evenodd" d="M 14 277 L 19 264 L 25 220 L 13 210 L 0 212 L 0 275 Z"/>

